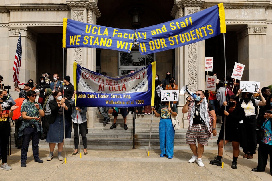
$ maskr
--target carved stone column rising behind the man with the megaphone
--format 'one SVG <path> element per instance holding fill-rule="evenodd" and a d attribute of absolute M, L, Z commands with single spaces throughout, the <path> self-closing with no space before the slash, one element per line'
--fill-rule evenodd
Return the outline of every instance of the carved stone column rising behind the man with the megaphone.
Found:
<path fill-rule="evenodd" d="M 172 9 L 172 17 L 180 18 L 200 11 L 200 7 L 204 3 L 204 0 L 176 0 Z M 205 42 L 192 43 L 183 47 L 176 48 L 176 65 L 178 77 L 178 86 L 181 89 L 182 86 L 188 85 L 191 92 L 195 92 L 198 89 L 203 89 L 205 86 Z M 186 102 L 188 95 L 179 94 L 178 102 L 178 117 L 180 119 L 180 125 L 183 128 L 188 127 L 187 114 L 182 113 L 182 108 Z"/>

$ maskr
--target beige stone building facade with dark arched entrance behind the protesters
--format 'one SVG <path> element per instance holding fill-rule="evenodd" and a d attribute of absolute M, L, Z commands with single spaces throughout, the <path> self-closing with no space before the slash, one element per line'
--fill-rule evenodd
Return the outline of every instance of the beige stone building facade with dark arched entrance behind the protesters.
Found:
<path fill-rule="evenodd" d="M 223 3 L 227 33 L 225 34 L 227 75 L 234 62 L 245 65 L 242 80 L 259 81 L 261 87 L 271 84 L 272 64 L 272 1 L 270 0 L 0 0 L 0 75 L 5 85 L 13 85 L 13 60 L 18 35 L 22 37 L 22 66 L 20 81 L 37 79 L 43 72 L 70 75 L 73 83 L 73 62 L 92 71 L 106 71 L 109 76 L 118 76 L 145 65 L 132 66 L 120 63 L 120 52 L 115 50 L 62 47 L 62 20 L 135 29 L 131 25 L 132 10 L 138 8 L 140 27 L 156 25 L 177 19 L 203 9 Z M 137 59 L 137 49 L 133 49 Z M 63 56 L 64 55 L 64 56 Z M 195 92 L 205 87 L 204 57 L 214 57 L 214 71 L 219 78 L 224 76 L 223 35 L 211 39 L 158 52 L 152 57 L 156 61 L 156 73 L 160 80 L 170 71 L 181 88 L 188 85 Z M 209 73 L 211 74 L 211 72 Z M 13 86 L 12 86 L 13 87 Z M 14 98 L 18 94 L 10 90 Z M 182 126 L 187 127 L 186 116 L 181 113 L 185 96 L 179 95 L 178 116 Z M 97 108 L 88 109 L 88 126 L 92 127 L 98 114 Z M 184 119 L 181 119 L 184 118 Z"/>

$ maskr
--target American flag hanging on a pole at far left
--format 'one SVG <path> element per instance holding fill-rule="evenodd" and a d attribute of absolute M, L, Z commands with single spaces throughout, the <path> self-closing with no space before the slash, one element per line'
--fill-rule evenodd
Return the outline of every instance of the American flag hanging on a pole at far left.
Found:
<path fill-rule="evenodd" d="M 18 84 L 23 84 L 23 83 L 20 83 L 19 81 L 19 71 L 21 67 L 21 60 L 22 60 L 22 41 L 21 41 L 21 35 L 19 35 L 15 59 L 14 59 L 14 65 L 13 65 L 13 70 L 14 70 L 13 82 L 17 82 Z"/>

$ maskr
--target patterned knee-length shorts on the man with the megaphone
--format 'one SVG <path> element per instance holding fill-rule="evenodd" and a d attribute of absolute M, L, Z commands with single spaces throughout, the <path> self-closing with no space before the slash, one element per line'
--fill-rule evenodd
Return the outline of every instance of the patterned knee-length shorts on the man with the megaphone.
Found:
<path fill-rule="evenodd" d="M 207 145 L 209 140 L 209 132 L 205 128 L 205 124 L 192 124 L 192 128 L 188 128 L 186 133 L 186 144 L 195 144 L 197 138 L 197 143 L 202 145 Z"/>

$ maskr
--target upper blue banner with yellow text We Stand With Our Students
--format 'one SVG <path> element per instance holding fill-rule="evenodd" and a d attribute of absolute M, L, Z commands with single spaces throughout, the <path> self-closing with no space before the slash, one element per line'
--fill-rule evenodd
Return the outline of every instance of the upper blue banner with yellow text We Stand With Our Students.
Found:
<path fill-rule="evenodd" d="M 158 25 L 136 30 L 110 28 L 63 19 L 63 47 L 91 47 L 142 55 L 196 43 L 226 33 L 223 4 Z"/>

